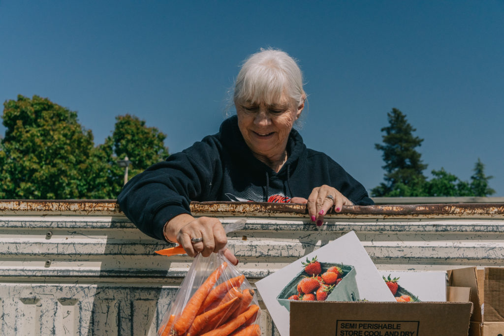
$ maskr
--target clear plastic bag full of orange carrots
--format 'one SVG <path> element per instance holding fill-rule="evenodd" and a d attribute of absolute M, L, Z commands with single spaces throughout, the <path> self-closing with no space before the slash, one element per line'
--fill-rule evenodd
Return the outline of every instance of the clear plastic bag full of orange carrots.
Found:
<path fill-rule="evenodd" d="M 199 254 L 161 320 L 157 334 L 259 336 L 260 312 L 255 291 L 222 251 L 208 257 Z"/>

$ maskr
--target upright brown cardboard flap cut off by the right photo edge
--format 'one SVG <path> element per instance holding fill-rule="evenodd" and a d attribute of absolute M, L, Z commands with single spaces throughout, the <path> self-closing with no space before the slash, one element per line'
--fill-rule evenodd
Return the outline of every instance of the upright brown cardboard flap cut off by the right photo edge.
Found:
<path fill-rule="evenodd" d="M 485 267 L 484 321 L 504 322 L 504 268 Z"/>

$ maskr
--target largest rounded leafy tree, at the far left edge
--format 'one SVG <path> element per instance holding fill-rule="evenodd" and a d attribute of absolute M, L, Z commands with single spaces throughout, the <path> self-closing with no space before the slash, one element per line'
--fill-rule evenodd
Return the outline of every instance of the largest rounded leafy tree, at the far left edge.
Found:
<path fill-rule="evenodd" d="M 4 103 L 0 197 L 79 198 L 87 191 L 93 135 L 77 113 L 33 96 Z"/>

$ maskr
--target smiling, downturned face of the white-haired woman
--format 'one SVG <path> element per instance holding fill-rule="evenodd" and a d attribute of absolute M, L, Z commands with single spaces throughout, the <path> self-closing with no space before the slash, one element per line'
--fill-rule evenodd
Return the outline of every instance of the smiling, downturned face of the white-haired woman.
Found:
<path fill-rule="evenodd" d="M 259 156 L 273 159 L 284 155 L 292 125 L 303 110 L 304 103 L 285 95 L 272 105 L 235 102 L 238 127 L 250 150 Z"/>

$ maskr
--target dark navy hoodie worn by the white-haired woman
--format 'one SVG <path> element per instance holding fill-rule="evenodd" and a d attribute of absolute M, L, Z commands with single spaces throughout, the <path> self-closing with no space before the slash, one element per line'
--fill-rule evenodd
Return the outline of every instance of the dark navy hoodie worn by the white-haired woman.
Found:
<path fill-rule="evenodd" d="M 307 149 L 295 129 L 289 134 L 287 154 L 278 173 L 256 159 L 233 116 L 216 135 L 133 177 L 117 201 L 142 232 L 161 240 L 165 223 L 190 214 L 192 200 L 288 203 L 291 197 L 308 198 L 314 187 L 327 184 L 356 205 L 373 204 L 362 184 L 326 154 Z"/>

